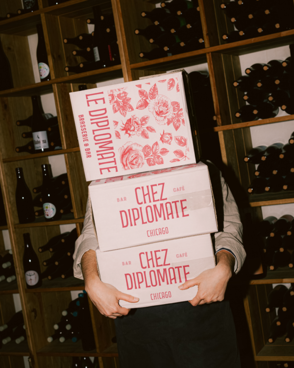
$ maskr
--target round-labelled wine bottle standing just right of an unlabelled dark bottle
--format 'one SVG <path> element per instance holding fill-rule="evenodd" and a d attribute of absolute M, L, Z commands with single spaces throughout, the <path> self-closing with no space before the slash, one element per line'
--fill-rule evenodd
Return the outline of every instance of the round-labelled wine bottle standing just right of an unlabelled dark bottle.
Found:
<path fill-rule="evenodd" d="M 59 204 L 57 195 L 51 186 L 51 179 L 49 176 L 49 164 L 41 165 L 43 173 L 43 183 L 42 183 L 42 200 L 43 200 L 43 210 L 45 215 L 45 221 L 56 221 L 61 218 L 61 213 L 59 211 Z"/>

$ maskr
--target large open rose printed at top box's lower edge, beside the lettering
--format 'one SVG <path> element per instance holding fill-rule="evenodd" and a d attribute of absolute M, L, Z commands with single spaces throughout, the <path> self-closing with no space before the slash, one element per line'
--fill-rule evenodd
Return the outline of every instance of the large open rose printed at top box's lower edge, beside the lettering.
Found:
<path fill-rule="evenodd" d="M 121 163 L 124 170 L 139 169 L 144 165 L 143 147 L 140 144 L 126 142 L 119 149 Z"/>

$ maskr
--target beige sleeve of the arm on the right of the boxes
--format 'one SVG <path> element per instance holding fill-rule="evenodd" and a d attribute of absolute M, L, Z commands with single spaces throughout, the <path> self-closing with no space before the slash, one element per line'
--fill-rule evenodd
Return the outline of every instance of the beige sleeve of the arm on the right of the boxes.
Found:
<path fill-rule="evenodd" d="M 239 210 L 220 170 L 210 161 L 203 162 L 207 164 L 209 169 L 218 218 L 219 232 L 212 237 L 215 251 L 217 253 L 220 250 L 226 250 L 231 253 L 236 259 L 234 272 L 238 273 L 246 258 L 242 243 L 243 226 Z"/>

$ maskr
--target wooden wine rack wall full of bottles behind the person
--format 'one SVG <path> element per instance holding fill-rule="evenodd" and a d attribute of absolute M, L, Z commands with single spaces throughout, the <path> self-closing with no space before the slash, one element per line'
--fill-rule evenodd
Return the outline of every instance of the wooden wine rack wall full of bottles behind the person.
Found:
<path fill-rule="evenodd" d="M 279 154 L 289 156 L 286 149 L 291 144 L 286 146 L 286 143 L 294 131 L 294 111 L 286 105 L 289 106 L 289 99 L 293 96 L 289 97 L 286 87 L 279 88 L 281 93 L 273 94 L 267 90 L 272 88 L 270 79 L 265 82 L 269 84 L 258 87 L 260 79 L 252 81 L 251 77 L 250 83 L 256 83 L 255 94 L 248 93 L 248 89 L 253 89 L 246 87 L 248 79 L 240 79 L 241 76 L 248 76 L 245 70 L 253 64 L 262 63 L 267 68 L 274 68 L 276 64 L 270 62 L 282 59 L 286 63 L 285 67 L 287 62 L 291 65 L 289 46 L 294 42 L 294 26 L 291 22 L 294 1 L 281 1 L 289 15 L 280 9 L 282 5 L 278 1 L 271 1 L 267 9 L 271 12 L 269 18 L 262 14 L 262 7 L 254 8 L 257 1 L 243 2 L 248 5 L 248 19 L 251 19 L 249 15 L 252 13 L 258 19 L 256 24 L 252 25 L 240 15 L 237 1 L 227 1 L 224 5 L 221 0 L 183 1 L 185 4 L 180 14 L 176 14 L 177 9 L 172 2 L 170 5 L 169 2 L 165 3 L 166 11 L 161 2 L 155 0 L 38 0 L 33 11 L 24 11 L 21 0 L 1 1 L 0 56 L 5 54 L 12 78 L 0 88 L 0 255 L 6 257 L 5 262 L 13 264 L 8 267 L 10 273 L 5 271 L 6 279 L 11 277 L 11 282 L 6 279 L 0 282 L 0 325 L 8 321 L 11 325 L 15 323 L 13 326 L 18 323 L 17 335 L 23 335 L 19 328 L 19 317 L 16 317 L 19 309 L 15 300 L 19 298 L 24 316 L 21 325 L 25 325 L 26 335 L 20 343 L 13 341 L 2 344 L 1 367 L 27 367 L 29 358 L 34 368 L 70 368 L 74 364 L 73 358 L 76 361 L 81 357 L 91 357 L 93 361 L 95 357 L 95 367 L 119 368 L 113 321 L 99 314 L 83 292 L 83 280 L 74 278 L 68 267 L 74 239 L 82 230 L 88 198 L 69 92 L 123 80 L 137 80 L 179 68 L 185 68 L 188 73 L 204 72 L 190 75 L 202 156 L 212 160 L 221 169 L 239 206 L 245 227 L 247 261 L 241 274 L 232 278 L 227 290 L 242 367 L 273 368 L 294 364 L 294 339 L 289 335 L 290 341 L 286 342 L 286 331 L 281 334 L 276 327 L 276 322 L 279 322 L 276 318 L 281 318 L 285 307 L 282 302 L 284 296 L 274 291 L 284 289 L 286 293 L 285 288 L 277 288 L 275 284 L 283 285 L 288 290 L 290 284 L 294 283 L 294 268 L 289 267 L 288 263 L 281 267 L 281 260 L 270 260 L 268 265 L 263 262 L 263 270 L 259 274 L 250 275 L 249 271 L 254 260 L 264 259 L 261 253 L 264 249 L 269 250 L 268 243 L 273 241 L 268 240 L 271 237 L 269 234 L 257 240 L 260 234 L 255 236 L 251 231 L 255 229 L 255 224 L 268 216 L 294 216 L 292 181 L 287 174 L 288 177 L 279 176 L 284 178 L 283 182 L 282 179 L 277 183 L 270 179 L 269 184 L 268 179 L 265 182 L 262 175 L 256 175 L 256 172 L 270 170 L 272 173 L 276 169 L 279 171 L 280 167 L 255 166 L 244 161 L 245 157 L 252 156 L 250 150 L 253 147 L 266 146 L 266 150 L 275 143 L 280 146 L 275 146 L 274 150 L 280 149 Z M 23 3 L 25 5 L 25 0 Z M 97 5 L 99 9 L 95 9 Z M 275 10 L 276 14 L 273 15 Z M 99 30 L 110 45 L 111 53 L 108 53 L 109 49 L 99 49 L 101 41 L 97 32 L 95 35 L 94 28 L 94 24 L 97 27 L 98 18 L 105 21 L 105 26 L 101 22 Z M 158 26 L 162 26 L 162 29 L 159 30 Z M 32 40 L 37 28 L 38 48 L 32 51 Z M 96 47 L 100 60 L 95 56 Z M 36 76 L 38 63 L 41 62 L 44 68 L 41 77 L 44 78 L 39 81 Z M 292 78 L 293 75 L 293 70 L 289 68 L 291 66 L 287 72 L 283 70 L 281 75 L 274 76 L 273 83 L 285 86 L 284 74 L 286 78 Z M 258 77 L 258 71 L 254 68 L 251 71 Z M 242 87 L 242 84 L 245 86 Z M 262 97 L 256 92 L 257 88 L 261 88 Z M 41 100 L 34 96 L 41 96 Z M 50 101 L 54 98 L 55 103 L 54 109 L 50 110 L 46 107 L 49 96 Z M 276 107 L 270 103 L 272 100 L 267 101 L 270 96 L 274 96 L 274 101 L 283 101 Z M 250 103 L 250 99 L 254 101 L 256 98 L 260 98 L 263 104 L 256 104 L 259 106 L 257 112 L 256 105 Z M 34 99 L 39 101 L 36 103 L 39 107 L 33 110 Z M 293 105 L 293 102 L 290 101 L 290 104 Z M 286 107 L 283 109 L 284 105 Z M 28 117 L 35 114 L 36 108 L 40 109 L 41 115 L 42 108 L 46 115 L 51 113 L 46 119 L 40 118 L 43 125 L 39 128 L 34 128 L 33 122 L 27 121 Z M 55 108 L 57 116 L 54 116 Z M 44 146 L 38 151 L 32 145 L 32 134 L 38 131 L 47 132 L 49 148 Z M 168 142 L 170 137 L 166 134 L 163 139 Z M 287 170 L 291 170 L 292 161 L 289 160 L 290 166 L 285 165 Z M 56 162 L 64 164 L 54 174 Z M 26 195 L 30 193 L 33 197 L 32 217 L 27 221 L 20 221 L 19 217 L 17 168 L 22 168 L 22 173 L 18 175 L 22 175 L 23 179 L 20 180 L 25 180 Z M 42 210 L 43 205 L 40 205 L 38 188 L 44 183 L 44 170 L 50 169 L 55 182 L 54 193 L 58 192 L 56 203 L 62 205 L 57 209 L 56 219 L 48 221 Z M 259 183 L 266 185 L 254 184 L 259 176 L 262 179 Z M 285 185 L 289 186 L 288 189 L 283 189 Z M 277 189 L 271 190 L 271 187 Z M 249 189 L 252 188 L 250 194 Z M 287 221 L 291 222 L 291 217 L 287 217 Z M 289 229 L 287 231 L 291 232 Z M 8 251 L 8 233 L 12 255 Z M 277 233 L 275 236 L 280 235 Z M 283 234 L 283 237 L 286 235 Z M 50 242 L 50 239 L 53 240 Z M 49 248 L 52 244 L 56 248 L 54 250 L 53 247 L 51 251 Z M 63 251 L 69 254 L 68 258 L 62 253 L 63 261 L 60 260 L 56 244 L 61 244 Z M 37 255 L 40 273 L 46 276 L 42 285 L 36 284 L 38 287 L 35 288 L 29 288 L 25 281 L 25 246 Z M 290 248 L 285 246 L 283 256 L 287 256 L 288 252 L 293 259 L 294 252 Z M 49 261 L 52 255 L 56 258 Z M 50 265 L 53 261 L 57 263 L 55 268 Z M 60 262 L 64 262 L 64 265 L 58 269 Z M 293 287 L 288 294 L 291 290 Z M 270 303 L 275 307 L 269 307 Z M 88 325 L 92 325 L 92 341 L 91 328 L 88 337 L 91 350 L 85 350 L 84 338 L 80 339 L 74 334 L 61 336 L 66 338 L 65 342 L 56 337 L 59 324 L 64 323 L 62 321 L 66 320 L 68 325 L 74 324 L 74 317 L 67 319 L 66 315 L 74 314 L 79 306 L 87 311 Z M 270 311 L 266 312 L 266 308 L 270 308 Z M 279 308 L 277 312 L 275 308 Z M 82 336 L 82 331 L 79 331 L 79 336 Z M 277 362 L 280 366 L 277 366 Z"/>

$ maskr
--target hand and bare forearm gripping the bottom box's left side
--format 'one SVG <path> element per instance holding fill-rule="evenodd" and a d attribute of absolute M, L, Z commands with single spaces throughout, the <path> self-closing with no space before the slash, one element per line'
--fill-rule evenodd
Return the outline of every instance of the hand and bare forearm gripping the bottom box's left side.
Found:
<path fill-rule="evenodd" d="M 81 259 L 81 267 L 85 281 L 85 290 L 102 315 L 113 319 L 127 315 L 130 310 L 122 308 L 119 305 L 119 300 L 121 299 L 130 303 L 139 301 L 139 298 L 124 294 L 110 284 L 102 283 L 98 275 L 96 253 L 94 250 L 84 253 Z"/>

